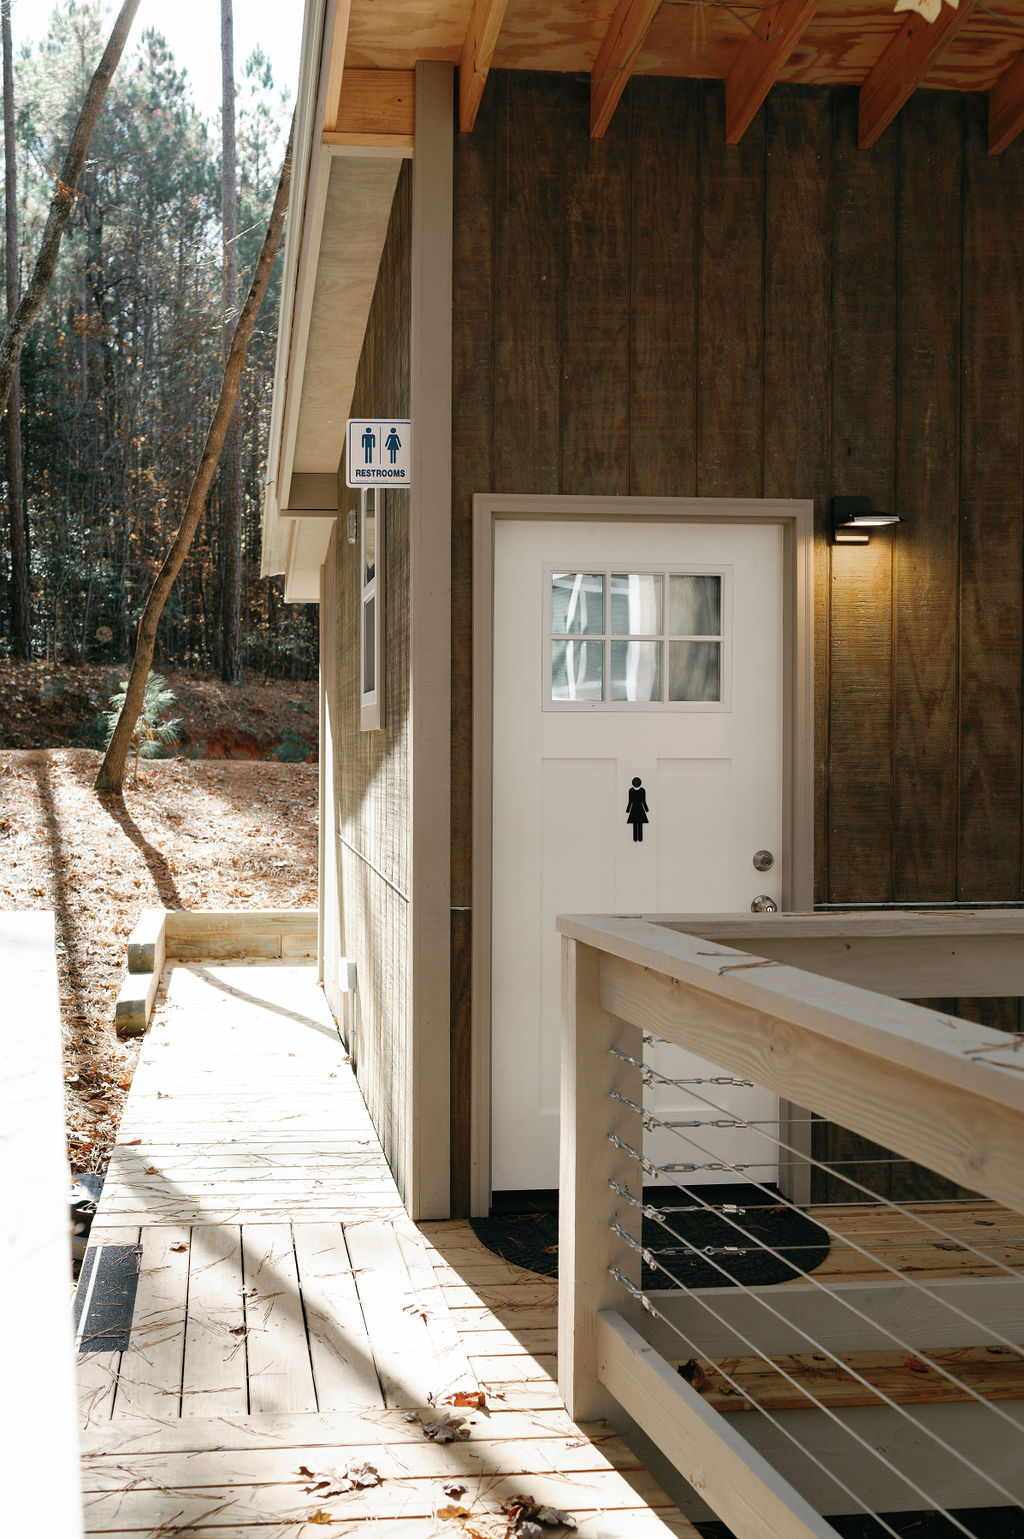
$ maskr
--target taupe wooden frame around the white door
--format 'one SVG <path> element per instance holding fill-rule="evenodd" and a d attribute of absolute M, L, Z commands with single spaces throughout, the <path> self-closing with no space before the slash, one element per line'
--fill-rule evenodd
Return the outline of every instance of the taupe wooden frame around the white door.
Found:
<path fill-rule="evenodd" d="M 497 520 L 775 523 L 782 529 L 782 906 L 815 897 L 815 503 L 779 497 L 473 497 L 471 1213 L 491 1203 L 491 819 Z"/>

